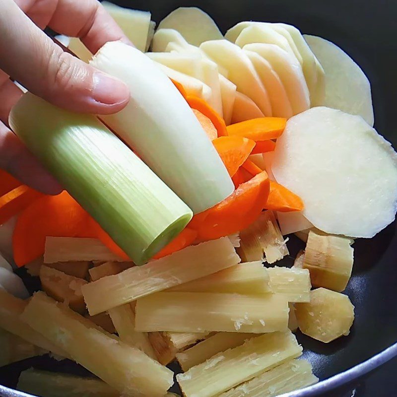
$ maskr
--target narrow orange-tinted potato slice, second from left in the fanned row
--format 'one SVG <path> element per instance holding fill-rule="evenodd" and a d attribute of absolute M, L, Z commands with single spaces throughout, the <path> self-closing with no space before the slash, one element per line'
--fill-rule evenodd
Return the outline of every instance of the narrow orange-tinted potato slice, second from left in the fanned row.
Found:
<path fill-rule="evenodd" d="M 292 117 L 292 107 L 278 74 L 273 70 L 265 58 L 261 57 L 259 54 L 247 50 L 244 50 L 244 52 L 251 60 L 266 88 L 273 116 L 285 117 L 286 119 Z"/>

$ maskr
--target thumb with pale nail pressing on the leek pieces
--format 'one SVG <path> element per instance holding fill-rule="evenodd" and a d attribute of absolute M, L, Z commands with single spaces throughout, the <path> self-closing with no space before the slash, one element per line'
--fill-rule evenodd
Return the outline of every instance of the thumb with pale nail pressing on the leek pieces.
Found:
<path fill-rule="evenodd" d="M 2 70 L 35 95 L 71 111 L 111 114 L 127 105 L 130 92 L 122 81 L 64 52 L 12 0 L 2 1 Z"/>

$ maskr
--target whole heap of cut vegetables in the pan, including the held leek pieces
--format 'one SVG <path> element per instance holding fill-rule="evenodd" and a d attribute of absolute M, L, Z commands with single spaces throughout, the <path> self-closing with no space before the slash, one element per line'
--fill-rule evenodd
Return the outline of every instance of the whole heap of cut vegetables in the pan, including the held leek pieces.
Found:
<path fill-rule="evenodd" d="M 373 129 L 368 79 L 287 24 L 223 36 L 181 7 L 155 31 L 149 12 L 103 4 L 136 48 L 69 48 L 129 86 L 127 107 L 99 120 L 26 93 L 10 113 L 66 190 L 0 171 L 0 252 L 42 290 L 27 299 L 0 257 L 3 365 L 51 352 L 99 378 L 23 372 L 18 388 L 43 397 L 169 396 L 173 360 L 187 397 L 316 383 L 293 332 L 349 333 L 352 244 L 396 215 L 397 154 Z M 292 233 L 306 248 L 286 267 Z"/>

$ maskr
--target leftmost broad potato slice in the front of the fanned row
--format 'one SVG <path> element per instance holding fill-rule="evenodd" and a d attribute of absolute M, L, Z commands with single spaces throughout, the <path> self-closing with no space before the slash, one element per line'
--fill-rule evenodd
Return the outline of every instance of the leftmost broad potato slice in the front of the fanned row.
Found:
<path fill-rule="evenodd" d="M 200 45 L 200 49 L 216 64 L 228 71 L 228 79 L 237 90 L 250 97 L 265 116 L 271 116 L 271 105 L 266 89 L 244 51 L 227 40 L 211 40 Z"/>

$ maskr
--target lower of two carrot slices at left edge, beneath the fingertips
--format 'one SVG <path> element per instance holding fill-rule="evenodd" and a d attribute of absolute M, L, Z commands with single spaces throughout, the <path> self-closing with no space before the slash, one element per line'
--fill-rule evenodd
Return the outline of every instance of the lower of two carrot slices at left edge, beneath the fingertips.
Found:
<path fill-rule="evenodd" d="M 0 197 L 0 225 L 29 206 L 41 193 L 20 185 Z"/>

